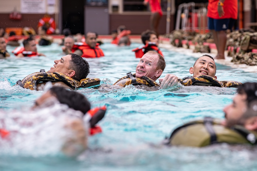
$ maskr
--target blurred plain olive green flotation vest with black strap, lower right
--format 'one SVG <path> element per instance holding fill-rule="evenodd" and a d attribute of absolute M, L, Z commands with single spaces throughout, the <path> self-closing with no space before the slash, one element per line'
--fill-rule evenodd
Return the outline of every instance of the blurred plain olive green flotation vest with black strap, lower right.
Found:
<path fill-rule="evenodd" d="M 226 128 L 220 123 L 221 120 L 211 117 L 189 122 L 175 129 L 164 144 L 193 147 L 203 147 L 216 143 L 257 144 L 256 132 L 247 130 L 240 125 Z"/>

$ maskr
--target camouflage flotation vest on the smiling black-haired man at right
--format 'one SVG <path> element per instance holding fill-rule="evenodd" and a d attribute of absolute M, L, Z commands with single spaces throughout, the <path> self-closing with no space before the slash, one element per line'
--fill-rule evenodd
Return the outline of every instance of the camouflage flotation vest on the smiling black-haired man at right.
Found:
<path fill-rule="evenodd" d="M 200 86 L 234 87 L 234 88 L 242 84 L 237 81 L 218 81 L 217 79 L 208 75 L 201 75 L 199 77 L 185 77 L 182 79 L 179 78 L 178 82 L 184 86 L 200 85 Z"/>

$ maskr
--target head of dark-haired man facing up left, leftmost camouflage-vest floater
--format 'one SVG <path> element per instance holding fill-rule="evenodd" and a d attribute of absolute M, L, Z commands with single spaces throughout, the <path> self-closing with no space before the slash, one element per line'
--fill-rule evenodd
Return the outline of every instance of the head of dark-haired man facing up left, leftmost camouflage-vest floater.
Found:
<path fill-rule="evenodd" d="M 53 67 L 48 71 L 49 73 L 60 72 L 77 81 L 87 78 L 89 74 L 89 64 L 81 56 L 71 53 L 55 60 Z"/>

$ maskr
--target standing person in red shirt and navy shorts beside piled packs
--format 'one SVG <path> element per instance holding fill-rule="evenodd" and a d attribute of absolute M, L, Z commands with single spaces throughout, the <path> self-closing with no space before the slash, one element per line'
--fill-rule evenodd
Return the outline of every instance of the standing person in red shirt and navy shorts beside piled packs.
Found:
<path fill-rule="evenodd" d="M 237 0 L 209 0 L 207 16 L 208 27 L 213 34 L 218 54 L 215 59 L 225 59 L 226 30 L 232 27 L 237 19 Z"/>

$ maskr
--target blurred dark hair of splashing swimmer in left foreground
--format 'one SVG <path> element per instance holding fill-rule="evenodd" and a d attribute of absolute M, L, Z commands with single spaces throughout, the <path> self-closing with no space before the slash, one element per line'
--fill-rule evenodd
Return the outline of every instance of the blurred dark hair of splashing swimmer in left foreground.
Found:
<path fill-rule="evenodd" d="M 76 91 L 66 90 L 63 87 L 52 87 L 49 91 L 61 104 L 66 104 L 74 110 L 79 110 L 84 115 L 90 110 L 90 103 L 87 98 Z"/>

